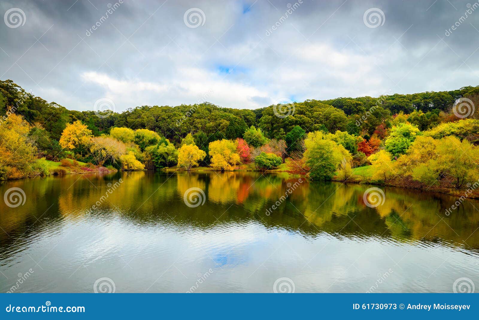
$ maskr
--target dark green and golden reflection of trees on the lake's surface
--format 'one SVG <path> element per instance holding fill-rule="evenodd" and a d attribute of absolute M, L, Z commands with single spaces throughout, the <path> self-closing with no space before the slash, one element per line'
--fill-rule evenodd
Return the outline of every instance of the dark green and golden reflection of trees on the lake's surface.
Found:
<path fill-rule="evenodd" d="M 99 208 L 91 210 L 113 183 L 124 182 Z M 186 231 L 214 226 L 234 227 L 251 221 L 266 228 L 282 228 L 315 237 L 328 232 L 338 237 L 386 237 L 396 241 L 444 241 L 479 249 L 479 208 L 466 200 L 450 216 L 445 210 L 456 198 L 422 191 L 385 188 L 383 205 L 369 208 L 363 202 L 368 186 L 303 182 L 287 198 L 297 177 L 257 172 L 225 174 L 88 175 L 27 179 L 0 189 L 23 188 L 28 201 L 11 209 L 0 202 L 2 246 L 15 237 L 41 232 L 57 221 L 79 221 L 102 216 L 119 217 L 139 228 L 156 226 Z M 205 205 L 189 208 L 183 201 L 187 189 L 205 192 Z M 277 206 L 272 209 L 272 206 Z M 266 210 L 270 210 L 268 214 Z M 271 213 L 270 213 L 271 212 Z M 39 219 L 41 222 L 38 222 Z M 462 244 L 464 241 L 465 244 Z"/>

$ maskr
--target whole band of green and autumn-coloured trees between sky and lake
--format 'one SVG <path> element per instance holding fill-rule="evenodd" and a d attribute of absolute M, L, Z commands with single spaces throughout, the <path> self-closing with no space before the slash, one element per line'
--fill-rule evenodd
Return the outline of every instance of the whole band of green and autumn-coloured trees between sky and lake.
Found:
<path fill-rule="evenodd" d="M 205 102 L 122 113 L 68 110 L 11 80 L 0 81 L 0 93 L 2 179 L 48 174 L 47 161 L 70 158 L 88 164 L 88 171 L 94 166 L 234 170 L 241 164 L 265 170 L 287 159 L 289 172 L 311 179 L 353 180 L 352 168 L 372 165 L 372 179 L 382 183 L 398 174 L 421 183 L 446 181 L 453 188 L 476 180 L 470 169 L 461 175 L 446 168 L 447 162 L 431 161 L 437 162 L 438 154 L 446 159 L 441 154 L 446 152 L 459 159 L 462 167 L 455 170 L 478 164 L 479 86 L 256 110 Z M 451 143 L 466 151 L 450 154 Z M 461 160 L 466 156 L 472 162 Z"/>

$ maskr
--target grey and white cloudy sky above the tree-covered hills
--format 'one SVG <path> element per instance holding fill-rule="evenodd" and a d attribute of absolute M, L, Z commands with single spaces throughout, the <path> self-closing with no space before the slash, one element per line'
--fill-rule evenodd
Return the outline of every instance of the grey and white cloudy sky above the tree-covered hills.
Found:
<path fill-rule="evenodd" d="M 2 0 L 0 11 L 0 79 L 68 109 L 479 85 L 473 1 Z"/>

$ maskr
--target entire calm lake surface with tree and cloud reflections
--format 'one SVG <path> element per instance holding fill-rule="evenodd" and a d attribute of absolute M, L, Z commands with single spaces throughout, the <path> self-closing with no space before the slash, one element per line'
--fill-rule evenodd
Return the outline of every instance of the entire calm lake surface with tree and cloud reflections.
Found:
<path fill-rule="evenodd" d="M 0 290 L 453 292 L 479 285 L 479 201 L 461 200 L 446 214 L 457 198 L 370 188 L 258 172 L 4 181 Z"/>

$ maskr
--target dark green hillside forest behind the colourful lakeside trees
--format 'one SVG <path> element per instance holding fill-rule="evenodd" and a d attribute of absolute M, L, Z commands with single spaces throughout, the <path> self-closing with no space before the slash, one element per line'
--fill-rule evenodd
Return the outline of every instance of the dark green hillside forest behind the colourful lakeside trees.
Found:
<path fill-rule="evenodd" d="M 379 98 L 337 98 L 306 100 L 294 103 L 294 114 L 285 118 L 274 115 L 273 106 L 256 110 L 222 108 L 211 103 L 181 106 L 141 106 L 100 118 L 94 111 L 68 110 L 56 102 L 35 97 L 11 80 L 0 81 L 0 115 L 16 107 L 30 123 L 39 123 L 48 137 L 59 140 L 67 123 L 80 120 L 93 135 L 109 133 L 112 127 L 133 130 L 148 129 L 180 143 L 188 133 L 205 132 L 208 142 L 218 139 L 236 139 L 251 125 L 262 129 L 268 138 L 281 138 L 299 125 L 306 132 L 320 130 L 347 131 L 350 134 L 372 135 L 376 127 L 389 126 L 391 116 L 403 112 L 410 114 L 410 122 L 420 130 L 439 124 L 441 111 L 449 113 L 454 102 L 463 97 L 479 94 L 478 87 L 464 87 L 453 91 L 394 94 Z M 247 106 L 245 106 L 247 108 Z M 374 110 L 367 114 L 369 110 Z M 361 121 L 367 117 L 367 121 Z M 412 118 L 411 118 L 412 117 Z M 360 126 L 357 126 L 357 123 Z"/>

